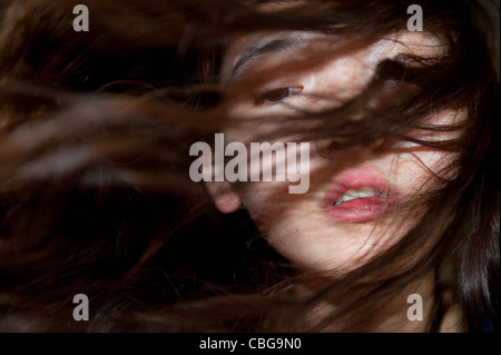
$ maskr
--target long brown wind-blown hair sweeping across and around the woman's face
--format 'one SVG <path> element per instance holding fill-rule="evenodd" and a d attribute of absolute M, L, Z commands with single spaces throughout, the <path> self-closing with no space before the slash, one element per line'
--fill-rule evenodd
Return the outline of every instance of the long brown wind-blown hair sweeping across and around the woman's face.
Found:
<path fill-rule="evenodd" d="M 262 118 L 284 124 L 269 137 L 328 139 L 325 156 L 382 138 L 458 154 L 445 168 L 454 178 L 410 201 L 422 216 L 384 253 L 346 275 L 293 276 L 245 210 L 218 214 L 188 177 L 190 145 L 235 125 L 219 80 L 225 43 L 308 30 L 350 51 L 405 30 L 412 2 L 262 3 L 89 0 L 88 32 L 72 30 L 75 1 L 0 3 L 0 329 L 367 332 L 431 270 L 429 332 L 452 304 L 468 331 L 498 328 L 497 4 L 421 1 L 445 51 L 382 61 L 335 109 Z M 465 119 L 424 122 L 444 109 Z M 299 130 L 305 120 L 315 125 Z M 461 135 L 426 141 L 410 134 L 420 129 Z M 76 294 L 90 299 L 89 322 L 72 318 Z M 325 302 L 332 312 L 312 321 Z"/>

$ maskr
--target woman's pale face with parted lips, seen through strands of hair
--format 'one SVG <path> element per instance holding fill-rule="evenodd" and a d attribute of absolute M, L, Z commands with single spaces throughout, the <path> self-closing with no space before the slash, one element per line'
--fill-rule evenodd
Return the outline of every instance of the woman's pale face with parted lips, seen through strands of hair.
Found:
<path fill-rule="evenodd" d="M 226 102 L 240 126 L 225 131 L 226 144 L 258 142 L 259 135 L 291 125 L 278 120 L 256 124 L 259 117 L 342 106 L 361 92 L 384 59 L 444 50 L 439 40 L 423 32 L 403 32 L 365 48 L 345 50 L 345 45 L 340 38 L 313 32 L 258 33 L 229 43 L 222 81 L 229 88 Z M 458 119 L 456 112 L 443 111 L 428 122 L 448 125 Z M 414 136 L 451 138 L 423 131 Z M 274 141 L 295 140 L 289 136 Z M 430 178 L 454 158 L 402 141 L 390 149 L 379 142 L 337 149 L 326 157 L 318 151 L 322 145 L 310 142 L 305 194 L 289 194 L 291 183 L 275 179 L 208 183 L 219 210 L 230 213 L 243 204 L 268 243 L 306 270 L 344 273 L 394 244 L 420 217 L 419 210 L 404 209 L 404 201 L 432 189 L 436 180 Z"/>

